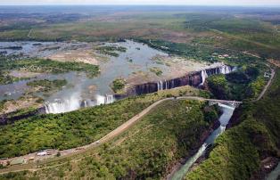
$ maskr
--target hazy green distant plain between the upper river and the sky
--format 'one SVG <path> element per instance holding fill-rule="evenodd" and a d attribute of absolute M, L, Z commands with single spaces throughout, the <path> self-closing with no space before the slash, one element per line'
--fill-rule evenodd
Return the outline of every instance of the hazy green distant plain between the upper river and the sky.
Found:
<path fill-rule="evenodd" d="M 188 53 L 248 51 L 263 58 L 279 59 L 280 35 L 275 22 L 262 20 L 251 10 L 231 12 L 159 11 L 98 14 L 88 20 L 49 21 L 0 30 L 1 40 L 118 41 L 119 38 L 163 40 L 188 45 Z M 261 10 L 271 13 L 280 11 Z M 251 15 L 251 16 L 250 16 Z M 257 13 L 260 17 L 264 14 Z M 265 15 L 264 15 L 265 16 Z M 28 23 L 28 22 L 27 22 Z M 1 28 L 1 27 L 0 27 Z M 248 33 L 249 32 L 249 33 Z M 29 35 L 29 36 L 28 36 Z M 191 46 L 190 46 L 191 45 Z M 206 50 L 205 50 L 206 49 Z M 207 50 L 208 49 L 208 50 Z M 178 49 L 179 50 L 179 49 Z M 200 56 L 199 58 L 207 58 Z"/>

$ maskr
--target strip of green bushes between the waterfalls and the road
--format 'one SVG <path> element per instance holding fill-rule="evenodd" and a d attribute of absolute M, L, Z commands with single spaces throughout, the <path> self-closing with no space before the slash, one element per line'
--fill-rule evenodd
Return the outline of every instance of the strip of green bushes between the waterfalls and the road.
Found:
<path fill-rule="evenodd" d="M 153 102 L 179 92 L 199 94 L 193 88 L 182 87 L 64 114 L 35 116 L 0 127 L 0 158 L 48 148 L 69 149 L 95 142 Z"/>

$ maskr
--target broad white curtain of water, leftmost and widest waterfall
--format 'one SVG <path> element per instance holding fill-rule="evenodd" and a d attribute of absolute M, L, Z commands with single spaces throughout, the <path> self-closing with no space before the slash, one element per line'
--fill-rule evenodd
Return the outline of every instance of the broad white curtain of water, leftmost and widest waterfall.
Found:
<path fill-rule="evenodd" d="M 79 98 L 73 95 L 70 99 L 61 100 L 55 99 L 54 102 L 45 102 L 45 112 L 47 114 L 58 114 L 78 110 L 80 108 Z"/>

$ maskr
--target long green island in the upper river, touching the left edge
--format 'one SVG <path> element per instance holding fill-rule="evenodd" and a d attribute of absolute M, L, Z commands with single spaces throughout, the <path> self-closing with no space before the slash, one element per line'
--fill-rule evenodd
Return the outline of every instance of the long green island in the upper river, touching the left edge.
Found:
<path fill-rule="evenodd" d="M 95 77 L 99 73 L 98 66 L 83 62 L 61 62 L 45 59 L 26 59 L 13 61 L 5 57 L 0 57 L 0 71 L 4 70 L 27 70 L 31 72 L 52 73 L 62 73 L 73 70 L 85 71 L 90 77 Z"/>

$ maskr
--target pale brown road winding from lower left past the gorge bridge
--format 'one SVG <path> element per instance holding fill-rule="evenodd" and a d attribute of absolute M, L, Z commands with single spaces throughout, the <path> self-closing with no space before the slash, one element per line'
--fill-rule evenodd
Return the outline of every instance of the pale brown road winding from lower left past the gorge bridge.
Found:
<path fill-rule="evenodd" d="M 271 77 L 270 77 L 270 79 L 268 81 L 267 86 L 265 86 L 265 88 L 263 89 L 261 94 L 259 94 L 259 97 L 256 100 L 252 101 L 252 102 L 257 102 L 257 101 L 259 101 L 263 97 L 263 95 L 267 92 L 268 87 L 271 85 L 271 82 L 272 82 L 274 77 L 275 77 L 275 70 L 271 69 Z M 176 99 L 177 100 L 211 101 L 211 102 L 220 102 L 220 103 L 236 103 L 236 101 L 226 101 L 226 100 L 218 100 L 218 99 L 206 99 L 206 98 L 202 98 L 202 97 L 198 97 L 198 96 L 181 96 L 181 97 L 177 97 Z M 110 141 L 114 137 L 116 137 L 116 136 L 122 134 L 123 132 L 125 132 L 129 127 L 132 127 L 138 120 L 142 119 L 144 117 L 144 115 L 149 113 L 153 108 L 155 108 L 156 106 L 158 106 L 162 102 L 171 101 L 171 100 L 175 100 L 175 98 L 174 97 L 165 98 L 165 99 L 162 99 L 162 100 L 160 100 L 158 102 L 152 103 L 152 105 L 150 105 L 149 107 L 147 107 L 146 109 L 144 109 L 140 113 L 136 114 L 135 117 L 133 117 L 132 119 L 129 119 L 127 122 L 123 123 L 122 125 L 120 125 L 116 129 L 111 131 L 109 134 L 103 136 L 100 140 L 95 141 L 94 143 L 90 143 L 90 144 L 85 145 L 85 146 L 80 146 L 78 148 L 73 148 L 73 149 L 69 149 L 69 150 L 60 151 L 61 156 L 62 157 L 70 157 L 71 155 L 77 155 L 77 154 L 80 154 L 80 153 L 85 153 L 89 149 L 95 148 L 97 146 L 100 146 L 103 143 L 106 143 L 106 142 Z M 237 102 L 237 103 L 242 103 L 242 102 Z M 8 161 L 16 160 L 16 159 L 29 160 L 29 158 L 32 157 L 32 158 L 35 158 L 35 160 L 33 160 L 33 162 L 29 162 L 29 163 L 36 164 L 35 161 L 37 161 L 37 160 L 39 160 L 39 161 L 41 161 L 41 160 L 44 161 L 44 160 L 47 160 L 47 159 L 54 159 L 55 160 L 54 157 L 55 157 L 55 155 L 56 155 L 56 153 L 58 151 L 57 150 L 53 150 L 53 152 L 54 153 L 52 155 L 44 156 L 44 157 L 39 157 L 39 156 L 36 155 L 37 152 L 34 152 L 34 153 L 30 153 L 30 154 L 25 155 L 25 156 L 8 159 Z M 26 164 L 23 164 L 23 165 L 16 166 L 16 168 L 13 169 L 13 170 L 10 170 L 9 168 L 0 169 L 0 174 L 4 174 L 4 173 L 8 173 L 8 172 L 16 172 L 16 171 L 21 171 L 21 170 L 30 170 L 30 169 L 35 170 L 34 167 L 27 166 Z"/>

